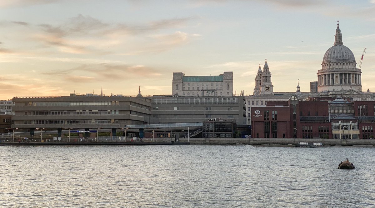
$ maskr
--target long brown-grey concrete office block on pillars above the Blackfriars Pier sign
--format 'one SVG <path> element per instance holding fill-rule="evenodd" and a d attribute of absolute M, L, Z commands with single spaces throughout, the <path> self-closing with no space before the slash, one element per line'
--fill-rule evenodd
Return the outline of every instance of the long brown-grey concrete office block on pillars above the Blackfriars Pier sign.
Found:
<path fill-rule="evenodd" d="M 111 128 L 113 133 L 125 125 L 149 122 L 148 98 L 129 96 L 90 96 L 71 94 L 55 97 L 13 97 L 15 106 L 12 128 L 89 129 Z"/>

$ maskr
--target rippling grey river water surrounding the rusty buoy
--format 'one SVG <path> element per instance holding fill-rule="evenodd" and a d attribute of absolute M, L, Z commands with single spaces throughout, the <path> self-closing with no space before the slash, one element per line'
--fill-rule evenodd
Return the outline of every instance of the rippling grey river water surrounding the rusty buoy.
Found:
<path fill-rule="evenodd" d="M 0 146 L 0 207 L 375 207 L 375 147 Z M 355 170 L 338 170 L 349 158 Z"/>

